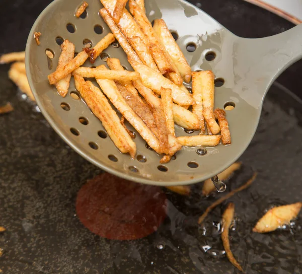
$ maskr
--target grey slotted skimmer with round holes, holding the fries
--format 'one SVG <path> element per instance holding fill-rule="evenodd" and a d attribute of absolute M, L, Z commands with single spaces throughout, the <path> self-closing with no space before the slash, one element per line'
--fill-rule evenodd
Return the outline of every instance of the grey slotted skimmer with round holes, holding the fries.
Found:
<path fill-rule="evenodd" d="M 84 44 L 94 46 L 110 32 L 99 16 L 103 8 L 98 0 L 87 0 L 89 7 L 81 18 L 74 16 L 82 0 L 55 0 L 35 22 L 26 47 L 26 70 L 37 104 L 51 126 L 80 155 L 103 170 L 128 180 L 156 185 L 191 184 L 210 178 L 235 162 L 245 151 L 256 131 L 264 96 L 276 77 L 302 56 L 302 26 L 268 38 L 240 38 L 210 16 L 182 0 L 148 0 L 146 14 L 150 21 L 163 18 L 185 53 L 192 71 L 212 70 L 215 80 L 215 108 L 227 110 L 232 145 L 183 148 L 176 159 L 160 165 L 161 156 L 150 151 L 136 133 L 137 157 L 131 159 L 114 146 L 102 123 L 96 118 L 71 78 L 65 98 L 50 86 L 47 76 L 55 71 L 60 55 L 59 44 L 68 39 L 80 52 Z M 41 44 L 34 32 L 41 32 Z M 47 57 L 49 50 L 54 57 Z M 105 57 L 119 58 L 132 70 L 121 47 L 112 44 L 95 66 L 105 64 Z M 84 66 L 92 66 L 89 60 Z M 189 86 L 189 85 L 187 85 Z M 231 106 L 231 107 L 230 107 Z M 280 125 L 281 126 L 281 125 Z M 176 126 L 176 134 L 194 135 Z"/>

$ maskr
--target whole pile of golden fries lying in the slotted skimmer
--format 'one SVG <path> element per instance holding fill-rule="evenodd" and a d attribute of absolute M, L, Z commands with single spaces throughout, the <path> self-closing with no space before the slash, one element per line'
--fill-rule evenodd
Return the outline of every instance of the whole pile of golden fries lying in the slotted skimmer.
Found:
<path fill-rule="evenodd" d="M 231 144 L 225 111 L 214 111 L 214 75 L 211 71 L 191 72 L 163 19 L 154 26 L 145 15 L 142 0 L 101 0 L 104 8 L 99 14 L 112 33 L 93 48 L 84 48 L 74 57 L 74 45 L 65 40 L 55 72 L 48 76 L 64 97 L 68 93 L 71 76 L 88 107 L 102 121 L 107 133 L 122 153 L 136 154 L 136 146 L 127 120 L 158 154 L 161 163 L 167 163 L 182 146 L 217 146 Z M 76 16 L 88 7 L 83 3 Z M 127 54 L 134 72 L 125 71 L 120 61 L 108 58 L 107 65 L 82 66 L 95 59 L 117 40 Z M 95 78 L 99 87 L 84 78 Z M 192 78 L 192 94 L 183 82 Z M 108 100 L 121 113 L 122 121 Z M 192 111 L 188 110 L 190 106 Z M 217 121 L 218 122 L 217 122 Z M 175 123 L 186 129 L 200 130 L 199 135 L 176 136 Z M 219 134 L 220 133 L 220 134 Z"/>

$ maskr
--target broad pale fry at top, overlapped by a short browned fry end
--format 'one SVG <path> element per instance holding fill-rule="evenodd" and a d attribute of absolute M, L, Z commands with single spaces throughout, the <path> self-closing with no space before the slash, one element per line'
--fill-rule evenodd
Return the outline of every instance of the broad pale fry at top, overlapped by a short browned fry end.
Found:
<path fill-rule="evenodd" d="M 112 1 L 101 0 L 101 3 L 103 4 L 109 15 L 113 17 L 114 5 L 112 4 Z M 125 36 L 132 48 L 135 50 L 140 60 L 145 65 L 152 67 L 154 70 L 157 70 L 157 65 L 154 62 L 148 48 L 147 39 L 130 13 L 126 9 L 123 9 L 122 17 L 120 18 L 120 20 L 117 21 L 113 18 L 113 21 L 116 23 L 121 33 Z M 139 40 L 134 37 L 139 37 Z"/>

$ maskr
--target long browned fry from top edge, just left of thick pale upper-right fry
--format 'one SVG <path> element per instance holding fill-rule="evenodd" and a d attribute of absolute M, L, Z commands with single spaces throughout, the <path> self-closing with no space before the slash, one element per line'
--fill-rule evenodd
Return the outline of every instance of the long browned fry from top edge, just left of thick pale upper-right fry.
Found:
<path fill-rule="evenodd" d="M 158 65 L 160 72 L 163 75 L 176 73 L 175 68 L 172 65 L 171 57 L 159 41 L 159 38 L 155 33 L 151 23 L 147 19 L 145 13 L 139 8 L 139 6 L 134 0 L 129 0 L 129 9 L 135 21 L 140 26 L 141 30 L 148 39 L 149 49 L 155 62 Z M 180 85 L 179 81 L 176 81 L 175 84 Z"/>

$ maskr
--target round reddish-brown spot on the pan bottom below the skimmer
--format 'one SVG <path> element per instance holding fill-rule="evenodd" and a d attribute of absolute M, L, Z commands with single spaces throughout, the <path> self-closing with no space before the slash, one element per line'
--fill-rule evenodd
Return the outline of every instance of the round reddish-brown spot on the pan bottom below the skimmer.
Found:
<path fill-rule="evenodd" d="M 134 240 L 155 232 L 166 218 L 167 199 L 157 186 L 103 173 L 78 192 L 77 215 L 91 232 L 113 240 Z"/>

